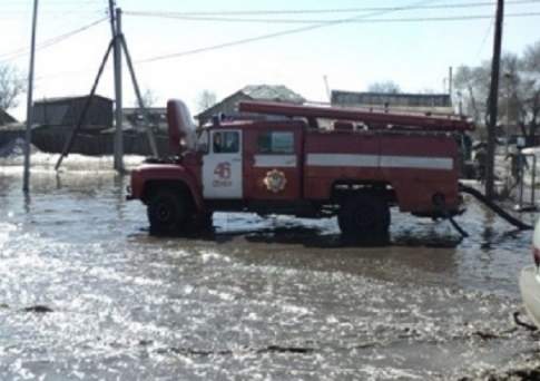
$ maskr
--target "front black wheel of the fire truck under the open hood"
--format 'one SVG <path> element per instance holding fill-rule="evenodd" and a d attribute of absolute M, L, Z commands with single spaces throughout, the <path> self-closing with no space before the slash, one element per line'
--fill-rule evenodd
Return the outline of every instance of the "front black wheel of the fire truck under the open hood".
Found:
<path fill-rule="evenodd" d="M 188 217 L 187 198 L 179 189 L 164 187 L 150 197 L 147 212 L 151 233 L 179 233 Z"/>

